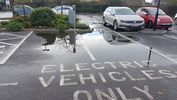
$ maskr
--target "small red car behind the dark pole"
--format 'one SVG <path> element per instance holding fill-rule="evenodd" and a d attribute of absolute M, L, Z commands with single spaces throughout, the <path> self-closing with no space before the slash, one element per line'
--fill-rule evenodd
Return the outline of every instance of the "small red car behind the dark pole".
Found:
<path fill-rule="evenodd" d="M 136 11 L 136 14 L 144 18 L 145 26 L 148 28 L 152 28 L 155 23 L 155 15 L 157 12 L 157 8 L 155 7 L 142 7 Z M 168 28 L 172 27 L 173 19 L 168 16 L 164 11 L 159 9 L 159 16 L 157 20 L 157 28 Z"/>

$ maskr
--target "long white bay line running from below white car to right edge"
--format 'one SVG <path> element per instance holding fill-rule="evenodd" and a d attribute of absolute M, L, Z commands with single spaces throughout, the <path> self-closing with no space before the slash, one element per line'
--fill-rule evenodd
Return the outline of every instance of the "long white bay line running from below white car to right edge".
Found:
<path fill-rule="evenodd" d="M 107 28 L 107 27 L 105 27 L 105 28 L 108 29 L 108 30 L 110 30 L 110 31 L 112 31 L 112 32 L 114 32 L 114 33 L 116 33 L 116 34 L 118 34 L 119 36 L 121 36 L 121 37 L 123 37 L 123 38 L 125 38 L 125 39 L 128 39 L 128 40 L 130 40 L 130 41 L 132 41 L 132 42 L 134 42 L 134 43 L 136 43 L 136 44 L 142 45 L 142 46 L 144 46 L 145 48 L 149 49 L 149 47 L 146 46 L 146 45 L 144 45 L 144 44 L 141 44 L 141 43 L 139 43 L 139 42 L 137 42 L 137 41 L 135 41 L 135 40 L 133 40 L 133 39 L 130 39 L 130 38 L 128 38 L 128 37 L 126 37 L 126 36 L 124 36 L 124 35 L 122 35 L 122 34 L 116 32 L 116 31 L 113 31 L 113 30 L 111 30 L 111 29 L 109 29 L 109 28 Z M 162 57 L 164 57 L 164 58 L 166 58 L 166 59 L 168 59 L 168 60 L 170 60 L 170 61 L 172 61 L 172 62 L 174 62 L 174 63 L 177 64 L 177 61 L 176 61 L 176 60 L 174 60 L 174 59 L 172 59 L 172 58 L 170 58 L 170 57 L 168 57 L 168 56 L 166 56 L 166 55 L 164 55 L 164 54 L 162 54 L 162 53 L 160 53 L 160 52 L 158 52 L 158 51 L 156 51 L 156 50 L 154 50 L 154 49 L 152 49 L 152 51 L 153 51 L 154 53 L 156 53 L 156 54 L 158 54 L 158 55 L 160 55 L 160 56 L 162 56 Z"/>

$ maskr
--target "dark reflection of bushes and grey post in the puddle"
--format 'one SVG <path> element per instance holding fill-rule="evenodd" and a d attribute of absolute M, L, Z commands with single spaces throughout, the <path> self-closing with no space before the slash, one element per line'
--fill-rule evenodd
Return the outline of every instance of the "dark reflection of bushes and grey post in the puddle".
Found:
<path fill-rule="evenodd" d="M 57 44 L 56 46 L 62 46 L 65 48 L 67 52 L 76 53 L 76 47 L 79 45 L 76 44 L 76 36 L 77 33 L 58 33 L 58 34 L 51 34 L 51 33 L 36 33 L 37 36 L 40 36 L 45 39 L 45 43 L 42 45 L 44 46 L 43 51 L 50 51 L 50 45 Z"/>

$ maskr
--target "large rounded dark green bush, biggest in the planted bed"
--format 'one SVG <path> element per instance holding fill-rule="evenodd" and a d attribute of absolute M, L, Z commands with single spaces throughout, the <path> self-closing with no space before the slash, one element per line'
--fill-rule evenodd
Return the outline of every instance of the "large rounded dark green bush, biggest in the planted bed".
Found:
<path fill-rule="evenodd" d="M 36 8 L 30 15 L 30 22 L 33 26 L 55 26 L 56 14 L 47 7 Z"/>

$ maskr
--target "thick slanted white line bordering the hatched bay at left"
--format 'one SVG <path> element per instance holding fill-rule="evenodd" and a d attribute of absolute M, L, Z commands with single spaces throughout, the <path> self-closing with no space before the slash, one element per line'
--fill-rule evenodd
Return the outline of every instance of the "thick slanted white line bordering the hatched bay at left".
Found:
<path fill-rule="evenodd" d="M 4 64 L 32 33 L 33 31 L 31 31 L 7 56 L 5 56 L 3 60 L 0 62 L 0 64 Z"/>

